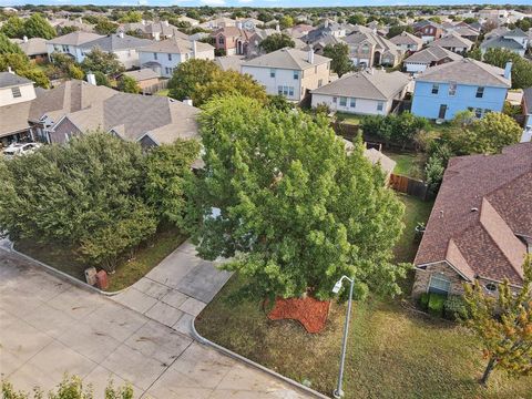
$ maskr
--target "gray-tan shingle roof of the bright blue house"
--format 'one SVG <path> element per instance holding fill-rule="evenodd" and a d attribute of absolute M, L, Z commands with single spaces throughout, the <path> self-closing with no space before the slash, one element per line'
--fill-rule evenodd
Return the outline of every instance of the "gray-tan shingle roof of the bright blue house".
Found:
<path fill-rule="evenodd" d="M 482 86 L 510 88 L 504 70 L 473 59 L 462 59 L 428 68 L 418 78 L 426 82 L 457 82 Z"/>

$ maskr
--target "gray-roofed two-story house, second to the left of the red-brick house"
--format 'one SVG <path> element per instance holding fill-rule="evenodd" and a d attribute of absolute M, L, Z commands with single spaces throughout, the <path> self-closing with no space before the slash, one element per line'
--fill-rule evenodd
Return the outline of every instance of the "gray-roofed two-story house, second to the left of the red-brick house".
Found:
<path fill-rule="evenodd" d="M 124 68 L 130 70 L 140 66 L 139 49 L 152 43 L 152 40 L 139 39 L 124 34 L 123 32 L 108 34 L 106 37 L 81 44 L 81 61 L 83 61 L 85 55 L 93 49 L 100 49 L 104 52 L 115 54 Z"/>

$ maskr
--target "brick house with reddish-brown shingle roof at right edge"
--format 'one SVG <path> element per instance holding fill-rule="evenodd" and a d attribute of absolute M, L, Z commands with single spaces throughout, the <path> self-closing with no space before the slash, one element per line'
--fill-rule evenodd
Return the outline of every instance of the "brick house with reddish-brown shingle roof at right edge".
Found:
<path fill-rule="evenodd" d="M 452 158 L 413 262 L 412 296 L 460 295 L 474 280 L 494 295 L 504 278 L 520 287 L 532 252 L 530 182 L 532 143 Z"/>

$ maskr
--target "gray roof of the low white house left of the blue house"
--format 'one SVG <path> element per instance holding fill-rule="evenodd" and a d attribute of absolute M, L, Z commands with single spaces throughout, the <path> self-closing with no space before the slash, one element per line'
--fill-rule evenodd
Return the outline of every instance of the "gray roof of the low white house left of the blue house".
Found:
<path fill-rule="evenodd" d="M 313 94 L 341 95 L 356 99 L 390 100 L 405 89 L 409 78 L 402 72 L 381 70 L 356 72 L 319 89 Z"/>

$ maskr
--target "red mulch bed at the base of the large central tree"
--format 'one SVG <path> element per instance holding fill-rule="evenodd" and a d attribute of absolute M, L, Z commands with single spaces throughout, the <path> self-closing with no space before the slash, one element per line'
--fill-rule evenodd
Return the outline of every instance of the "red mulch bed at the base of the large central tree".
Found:
<path fill-rule="evenodd" d="M 316 334 L 325 328 L 330 300 L 306 298 L 277 298 L 268 314 L 270 320 L 291 319 L 299 321 L 307 332 Z"/>

